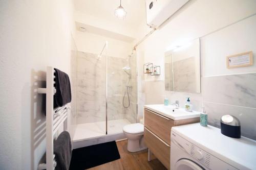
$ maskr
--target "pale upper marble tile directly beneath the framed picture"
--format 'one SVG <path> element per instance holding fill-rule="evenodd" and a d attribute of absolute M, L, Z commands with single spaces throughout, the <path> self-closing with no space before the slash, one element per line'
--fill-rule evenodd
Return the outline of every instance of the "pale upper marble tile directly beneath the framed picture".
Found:
<path fill-rule="evenodd" d="M 202 78 L 206 102 L 256 108 L 256 73 Z"/>

